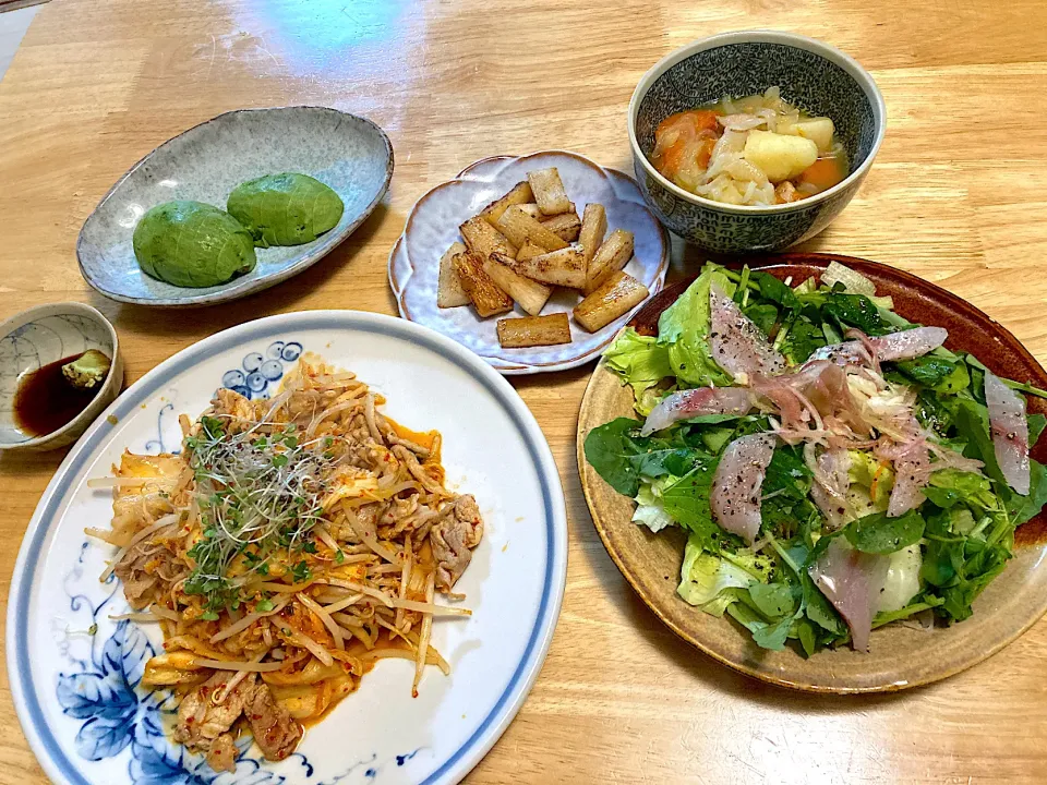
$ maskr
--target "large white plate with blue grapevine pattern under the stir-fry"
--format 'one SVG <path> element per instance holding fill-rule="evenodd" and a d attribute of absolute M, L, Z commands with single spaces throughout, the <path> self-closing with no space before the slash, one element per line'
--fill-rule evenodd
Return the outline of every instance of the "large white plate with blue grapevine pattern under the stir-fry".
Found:
<path fill-rule="evenodd" d="M 386 660 L 312 726 L 280 763 L 244 746 L 215 774 L 165 736 L 174 710 L 140 688 L 158 630 L 99 583 L 112 550 L 84 536 L 105 527 L 103 476 L 127 448 L 178 449 L 178 414 L 198 414 L 222 384 L 264 396 L 303 351 L 354 371 L 405 425 L 437 428 L 453 487 L 476 495 L 484 539 L 457 584 L 473 615 L 433 628 L 449 677 Z M 461 413 L 468 411 L 468 416 Z M 402 319 L 350 311 L 272 316 L 219 333 L 149 372 L 85 433 L 48 485 L 19 554 L 8 605 L 8 673 L 22 727 L 57 783 L 334 785 L 454 783 L 491 748 L 538 675 L 559 614 L 567 520 L 556 466 L 516 391 L 454 341 Z"/>

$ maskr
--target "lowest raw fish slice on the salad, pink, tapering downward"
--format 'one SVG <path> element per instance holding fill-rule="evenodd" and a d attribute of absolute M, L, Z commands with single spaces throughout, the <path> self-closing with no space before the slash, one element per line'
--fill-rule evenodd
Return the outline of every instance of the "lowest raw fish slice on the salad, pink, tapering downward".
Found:
<path fill-rule="evenodd" d="M 864 554 L 851 547 L 844 538 L 837 536 L 808 569 L 815 585 L 847 623 L 857 651 L 869 650 L 872 616 L 890 564 L 889 556 Z"/>

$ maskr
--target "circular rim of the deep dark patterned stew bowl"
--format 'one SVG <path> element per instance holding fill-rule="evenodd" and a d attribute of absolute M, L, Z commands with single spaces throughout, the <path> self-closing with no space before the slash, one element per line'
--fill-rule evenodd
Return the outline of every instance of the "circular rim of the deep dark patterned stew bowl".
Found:
<path fill-rule="evenodd" d="M 686 60 L 691 55 L 697 55 L 709 49 L 733 46 L 735 44 L 780 44 L 794 49 L 803 49 L 813 55 L 817 55 L 823 60 L 828 60 L 834 65 L 839 65 L 843 71 L 855 81 L 855 83 L 865 93 L 866 98 L 872 109 L 872 120 L 876 124 L 876 138 L 872 141 L 872 148 L 865 156 L 862 164 L 847 177 L 833 185 L 831 189 L 822 191 L 815 196 L 810 196 L 799 202 L 792 202 L 780 205 L 729 205 L 722 202 L 713 202 L 705 196 L 698 196 L 689 191 L 685 191 L 675 183 L 663 177 L 654 165 L 648 160 L 647 156 L 640 149 L 639 140 L 636 137 L 636 118 L 640 111 L 640 102 L 647 96 L 651 86 L 676 63 Z M 659 185 L 676 198 L 689 202 L 698 207 L 712 209 L 720 213 L 731 213 L 735 215 L 768 215 L 781 213 L 794 213 L 796 210 L 808 209 L 817 204 L 832 198 L 834 195 L 847 190 L 865 177 L 865 173 L 872 166 L 872 159 L 880 149 L 883 142 L 883 134 L 887 131 L 887 104 L 883 101 L 883 95 L 877 87 L 872 76 L 858 64 L 858 61 L 850 55 L 837 49 L 825 41 L 807 36 L 796 35 L 795 33 L 782 33 L 780 31 L 769 29 L 749 29 L 737 31 L 734 33 L 721 33 L 720 35 L 699 38 L 679 49 L 671 51 L 669 55 L 652 65 L 636 85 L 633 92 L 633 98 L 629 100 L 629 146 L 633 148 L 633 157 L 642 164 L 648 177 L 652 178 Z"/>

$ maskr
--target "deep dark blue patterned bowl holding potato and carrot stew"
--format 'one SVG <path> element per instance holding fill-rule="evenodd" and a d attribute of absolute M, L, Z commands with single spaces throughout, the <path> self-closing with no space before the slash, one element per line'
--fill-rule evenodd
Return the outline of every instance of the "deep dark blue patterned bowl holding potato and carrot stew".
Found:
<path fill-rule="evenodd" d="M 843 182 L 784 205 L 737 206 L 696 196 L 658 173 L 648 156 L 670 114 L 779 86 L 785 100 L 832 118 L 851 161 Z M 887 109 L 872 77 L 827 44 L 773 31 L 742 31 L 677 49 L 643 74 L 629 102 L 636 180 L 659 219 L 685 240 L 720 253 L 782 251 L 840 215 L 872 165 Z"/>

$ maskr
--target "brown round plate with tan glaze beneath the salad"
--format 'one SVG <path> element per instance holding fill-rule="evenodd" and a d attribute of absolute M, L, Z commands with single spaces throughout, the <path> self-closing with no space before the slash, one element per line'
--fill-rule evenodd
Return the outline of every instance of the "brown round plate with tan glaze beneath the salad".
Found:
<path fill-rule="evenodd" d="M 747 259 L 779 278 L 799 283 L 838 261 L 876 283 L 878 294 L 894 298 L 894 310 L 912 322 L 949 330 L 946 346 L 975 354 L 1000 376 L 1047 388 L 1047 373 L 1006 330 L 971 303 L 908 273 L 834 254 L 781 254 Z M 671 286 L 650 300 L 630 323 L 653 334 L 658 317 L 689 281 Z M 1047 404 L 1028 399 L 1031 412 Z M 635 416 L 633 392 L 601 362 L 578 415 L 578 467 L 592 521 L 611 554 L 645 603 L 676 632 L 714 660 L 736 671 L 783 687 L 810 692 L 879 692 L 901 690 L 952 676 L 982 662 L 1028 629 L 1047 611 L 1047 556 L 1043 515 L 1019 529 L 1014 558 L 974 604 L 974 616 L 951 627 L 919 630 L 891 625 L 872 632 L 868 654 L 851 649 L 821 651 L 805 660 L 786 648 L 760 649 L 743 628 L 691 607 L 676 595 L 686 535 L 678 528 L 653 534 L 631 522 L 634 503 L 617 494 L 588 464 L 582 451 L 593 427 L 617 416 Z M 1033 456 L 1047 462 L 1047 442 Z"/>

